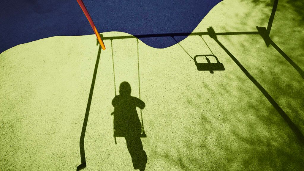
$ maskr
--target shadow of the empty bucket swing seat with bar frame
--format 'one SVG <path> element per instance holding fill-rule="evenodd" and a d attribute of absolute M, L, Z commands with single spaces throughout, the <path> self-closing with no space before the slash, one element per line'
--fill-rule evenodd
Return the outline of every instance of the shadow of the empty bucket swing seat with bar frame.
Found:
<path fill-rule="evenodd" d="M 207 63 L 198 63 L 197 57 L 205 57 Z M 216 63 L 211 63 L 208 57 L 214 57 L 216 59 Z M 224 71 L 224 65 L 219 62 L 218 58 L 215 55 L 196 55 L 194 58 L 195 65 L 197 67 L 197 70 L 199 71 L 209 71 L 211 74 L 213 74 L 213 71 Z"/>

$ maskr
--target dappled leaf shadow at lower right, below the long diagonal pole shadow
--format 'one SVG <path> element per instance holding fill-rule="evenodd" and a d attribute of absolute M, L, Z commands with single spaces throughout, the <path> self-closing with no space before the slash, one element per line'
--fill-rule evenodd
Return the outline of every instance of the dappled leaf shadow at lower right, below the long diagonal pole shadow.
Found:
<path fill-rule="evenodd" d="M 241 84 L 236 94 L 239 97 L 251 95 Z M 192 135 L 197 133 L 194 134 L 195 140 L 181 140 L 183 148 L 172 145 L 174 153 L 167 151 L 162 157 L 180 170 L 189 171 L 301 170 L 304 162 L 303 144 L 284 124 L 284 120 L 273 114 L 276 110 L 272 106 L 266 106 L 267 111 L 263 113 L 264 108 L 260 106 L 265 101 L 258 98 L 261 97 L 257 96 L 253 101 L 244 100 L 244 103 L 239 98 L 234 103 L 240 104 L 239 113 L 232 113 L 235 109 L 229 110 L 228 106 L 218 105 L 218 113 L 223 116 L 217 118 L 204 113 L 199 101 L 188 100 L 200 117 L 198 123 L 187 130 Z"/>

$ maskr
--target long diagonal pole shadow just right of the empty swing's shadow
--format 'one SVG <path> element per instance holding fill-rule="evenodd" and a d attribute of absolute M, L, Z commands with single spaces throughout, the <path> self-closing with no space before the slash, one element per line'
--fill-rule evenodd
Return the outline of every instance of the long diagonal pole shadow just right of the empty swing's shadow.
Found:
<path fill-rule="evenodd" d="M 212 36 L 210 36 L 212 37 Z M 301 143 L 304 142 L 304 136 L 302 132 L 299 130 L 299 128 L 292 122 L 292 120 L 287 116 L 287 114 L 284 112 L 284 110 L 278 105 L 278 103 L 275 102 L 275 100 L 270 96 L 270 94 L 264 89 L 264 87 L 257 82 L 256 79 L 244 68 L 244 66 L 233 56 L 233 54 L 228 51 L 228 49 L 221 43 L 219 40 L 217 40 L 216 37 L 212 37 L 217 44 L 230 56 L 230 58 L 237 64 L 237 66 L 244 72 L 244 74 L 250 79 L 251 82 L 254 83 L 255 86 L 263 93 L 263 95 L 266 97 L 266 99 L 271 103 L 271 105 L 278 111 L 278 113 L 281 115 L 281 117 L 285 120 L 285 122 L 288 124 L 288 126 L 291 128 L 291 130 L 295 133 L 297 138 Z"/>

